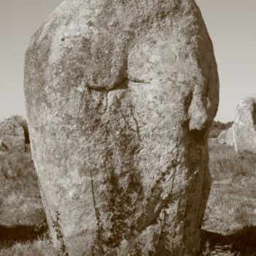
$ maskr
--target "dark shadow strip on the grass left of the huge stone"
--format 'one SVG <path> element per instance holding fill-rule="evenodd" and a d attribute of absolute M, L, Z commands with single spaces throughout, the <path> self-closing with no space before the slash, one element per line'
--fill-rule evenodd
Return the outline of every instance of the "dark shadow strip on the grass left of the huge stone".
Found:
<path fill-rule="evenodd" d="M 48 231 L 47 225 L 4 227 L 0 225 L 0 248 L 12 246 L 15 243 L 34 241 Z"/>

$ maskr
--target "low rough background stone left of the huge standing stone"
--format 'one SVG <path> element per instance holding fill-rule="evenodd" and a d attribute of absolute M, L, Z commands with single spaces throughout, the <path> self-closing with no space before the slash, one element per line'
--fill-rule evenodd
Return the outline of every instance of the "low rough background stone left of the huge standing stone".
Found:
<path fill-rule="evenodd" d="M 0 151 L 21 151 L 25 148 L 25 134 L 21 118 L 12 116 L 0 122 Z"/>

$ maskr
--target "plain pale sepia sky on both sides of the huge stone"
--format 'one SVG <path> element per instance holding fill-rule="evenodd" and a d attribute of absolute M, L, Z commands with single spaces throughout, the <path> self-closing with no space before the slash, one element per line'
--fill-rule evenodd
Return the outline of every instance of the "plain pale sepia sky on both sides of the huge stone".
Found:
<path fill-rule="evenodd" d="M 238 100 L 256 94 L 256 0 L 196 0 L 219 67 L 217 120 L 232 121 Z M 61 0 L 0 0 L 0 120 L 25 115 L 23 58 L 29 38 Z"/>

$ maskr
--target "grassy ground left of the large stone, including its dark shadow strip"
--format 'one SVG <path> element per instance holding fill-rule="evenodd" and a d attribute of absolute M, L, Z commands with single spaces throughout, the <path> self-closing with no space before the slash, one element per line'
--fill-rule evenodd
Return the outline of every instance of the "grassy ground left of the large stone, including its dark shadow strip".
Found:
<path fill-rule="evenodd" d="M 45 231 L 45 212 L 31 153 L 1 152 L 0 256 L 40 255 L 37 249 L 47 248 L 50 242 L 34 238 Z"/>

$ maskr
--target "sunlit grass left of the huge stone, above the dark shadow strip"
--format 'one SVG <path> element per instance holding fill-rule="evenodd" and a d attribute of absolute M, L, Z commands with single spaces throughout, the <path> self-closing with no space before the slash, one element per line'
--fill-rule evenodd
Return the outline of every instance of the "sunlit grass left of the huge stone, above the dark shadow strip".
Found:
<path fill-rule="evenodd" d="M 45 220 L 30 152 L 0 154 L 0 225 L 41 225 Z"/>

